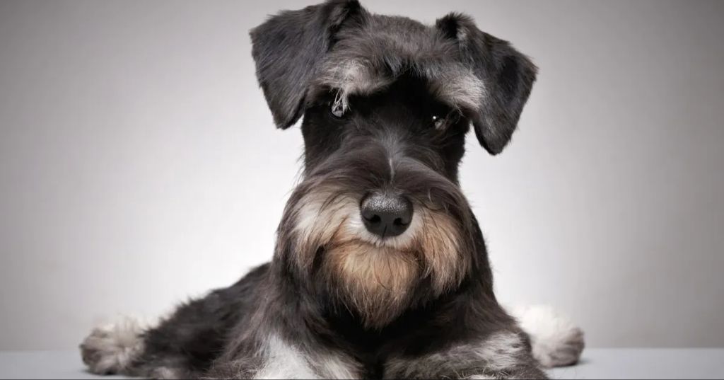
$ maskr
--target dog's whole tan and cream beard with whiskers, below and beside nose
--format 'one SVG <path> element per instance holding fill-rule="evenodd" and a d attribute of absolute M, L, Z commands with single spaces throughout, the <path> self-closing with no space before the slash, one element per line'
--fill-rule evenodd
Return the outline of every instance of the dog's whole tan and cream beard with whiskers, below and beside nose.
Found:
<path fill-rule="evenodd" d="M 358 205 L 353 194 L 317 187 L 295 202 L 290 216 L 303 273 L 323 281 L 366 326 L 385 326 L 403 313 L 423 281 L 433 296 L 460 283 L 470 259 L 460 244 L 462 228 L 445 209 L 416 204 L 405 233 L 380 239 L 366 231 Z"/>

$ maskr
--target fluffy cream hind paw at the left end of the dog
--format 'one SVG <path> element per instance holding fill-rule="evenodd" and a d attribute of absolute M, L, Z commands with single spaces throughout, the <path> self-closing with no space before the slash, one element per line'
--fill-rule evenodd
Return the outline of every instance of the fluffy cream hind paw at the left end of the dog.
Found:
<path fill-rule="evenodd" d="M 128 373 L 133 360 L 143 352 L 143 326 L 132 318 L 98 327 L 80 344 L 83 363 L 92 373 Z"/>

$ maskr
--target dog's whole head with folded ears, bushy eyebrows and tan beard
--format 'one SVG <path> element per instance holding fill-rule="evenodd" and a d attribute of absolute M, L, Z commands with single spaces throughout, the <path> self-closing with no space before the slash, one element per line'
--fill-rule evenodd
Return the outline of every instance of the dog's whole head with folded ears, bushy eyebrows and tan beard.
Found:
<path fill-rule="evenodd" d="M 454 289 L 484 260 L 458 186 L 466 132 L 502 151 L 536 67 L 469 17 L 427 26 L 357 1 L 282 12 L 251 37 L 275 123 L 303 116 L 277 260 L 372 327 Z"/>

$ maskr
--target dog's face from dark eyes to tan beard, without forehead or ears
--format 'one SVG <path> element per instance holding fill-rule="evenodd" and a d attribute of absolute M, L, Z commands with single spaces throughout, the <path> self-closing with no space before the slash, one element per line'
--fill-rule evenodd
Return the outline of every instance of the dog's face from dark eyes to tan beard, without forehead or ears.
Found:
<path fill-rule="evenodd" d="M 306 175 L 290 205 L 296 258 L 344 289 L 370 324 L 397 315 L 423 281 L 435 294 L 458 284 L 471 260 L 456 180 L 468 125 L 426 88 L 400 78 L 350 96 L 345 110 L 332 91 L 302 125 Z"/>

